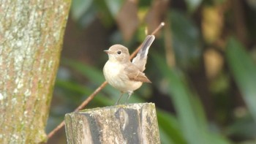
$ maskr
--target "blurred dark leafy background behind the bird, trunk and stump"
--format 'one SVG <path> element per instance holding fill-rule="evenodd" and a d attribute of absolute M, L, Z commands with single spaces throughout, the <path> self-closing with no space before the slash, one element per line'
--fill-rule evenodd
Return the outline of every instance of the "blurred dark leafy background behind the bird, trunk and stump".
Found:
<path fill-rule="evenodd" d="M 155 103 L 163 144 L 256 143 L 255 0 L 73 0 L 46 132 L 105 81 L 103 50 L 132 53 L 162 21 L 145 71 L 152 83 L 129 103 Z M 86 109 L 119 94 L 106 86 Z M 64 129 L 48 143 L 67 143 Z"/>

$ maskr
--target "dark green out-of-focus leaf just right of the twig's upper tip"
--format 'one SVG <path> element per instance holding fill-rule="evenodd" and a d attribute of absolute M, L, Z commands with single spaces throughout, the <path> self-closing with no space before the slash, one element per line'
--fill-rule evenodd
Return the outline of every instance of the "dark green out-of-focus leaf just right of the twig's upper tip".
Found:
<path fill-rule="evenodd" d="M 199 29 L 192 23 L 192 20 L 176 10 L 170 12 L 169 19 L 178 67 L 195 69 L 202 53 Z"/>

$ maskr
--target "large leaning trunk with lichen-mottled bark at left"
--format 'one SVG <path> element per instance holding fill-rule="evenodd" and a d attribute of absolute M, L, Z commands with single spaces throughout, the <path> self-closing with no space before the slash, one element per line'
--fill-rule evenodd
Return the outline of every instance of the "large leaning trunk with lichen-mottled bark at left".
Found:
<path fill-rule="evenodd" d="M 0 143 L 46 140 L 70 0 L 0 0 Z"/>

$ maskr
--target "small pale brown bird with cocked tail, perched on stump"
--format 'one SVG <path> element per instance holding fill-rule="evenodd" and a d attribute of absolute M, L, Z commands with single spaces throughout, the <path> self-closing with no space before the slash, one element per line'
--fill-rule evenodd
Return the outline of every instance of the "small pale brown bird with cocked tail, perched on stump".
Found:
<path fill-rule="evenodd" d="M 103 73 L 107 82 L 114 88 L 121 91 L 121 96 L 128 93 L 127 101 L 132 92 L 140 88 L 142 83 L 151 83 L 143 73 L 145 70 L 148 49 L 154 41 L 154 35 L 148 35 L 143 42 L 137 56 L 129 60 L 129 51 L 123 45 L 113 45 L 108 50 L 108 61 L 106 62 Z M 119 97 L 116 105 L 118 104 Z"/>

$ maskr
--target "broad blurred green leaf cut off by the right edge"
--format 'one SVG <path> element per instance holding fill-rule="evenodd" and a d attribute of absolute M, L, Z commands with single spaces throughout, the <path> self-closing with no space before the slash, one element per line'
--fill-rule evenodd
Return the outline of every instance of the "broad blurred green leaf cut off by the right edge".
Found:
<path fill-rule="evenodd" d="M 246 106 L 256 121 L 256 66 L 245 48 L 235 38 L 230 38 L 227 43 L 227 63 Z"/>

